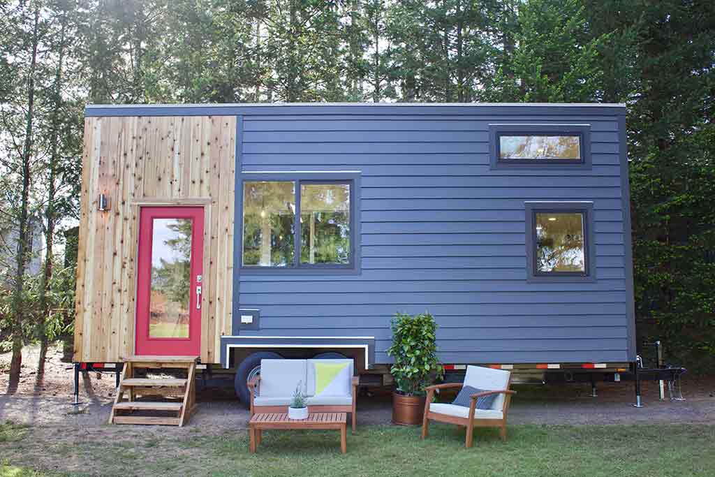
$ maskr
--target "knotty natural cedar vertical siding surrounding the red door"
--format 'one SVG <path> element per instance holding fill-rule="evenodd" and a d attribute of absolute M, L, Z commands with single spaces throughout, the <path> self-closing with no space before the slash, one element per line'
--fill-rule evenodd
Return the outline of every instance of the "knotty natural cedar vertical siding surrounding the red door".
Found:
<path fill-rule="evenodd" d="M 217 362 L 232 315 L 236 117 L 87 116 L 74 360 L 134 354 L 138 204 L 154 201 L 207 205 L 201 359 Z"/>

